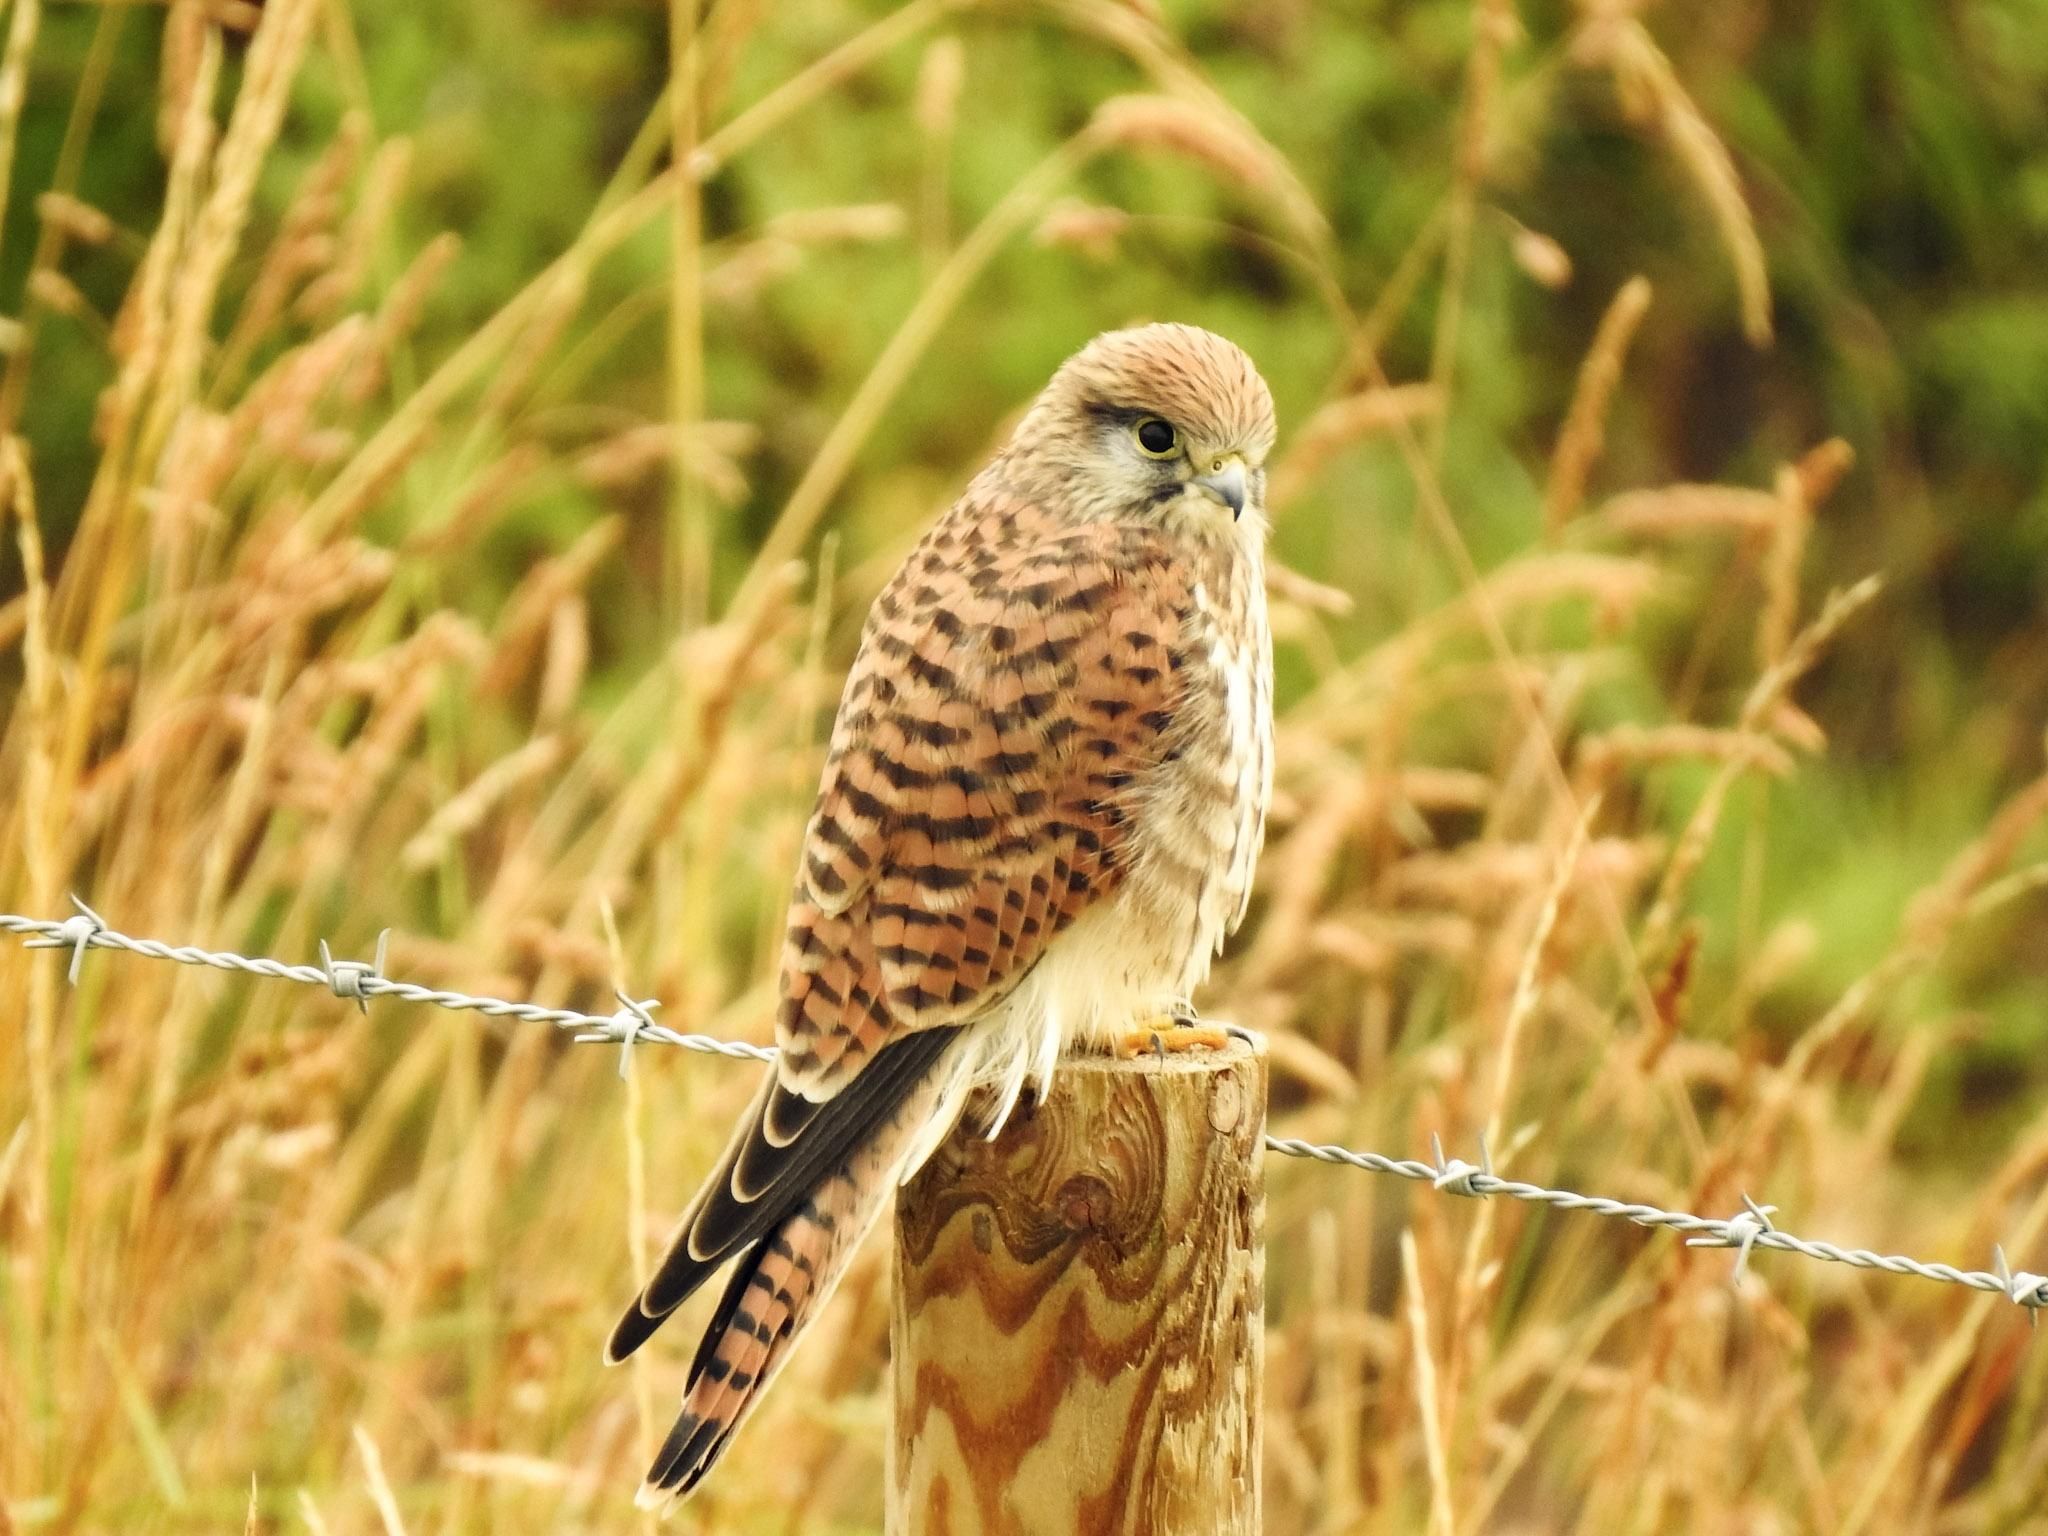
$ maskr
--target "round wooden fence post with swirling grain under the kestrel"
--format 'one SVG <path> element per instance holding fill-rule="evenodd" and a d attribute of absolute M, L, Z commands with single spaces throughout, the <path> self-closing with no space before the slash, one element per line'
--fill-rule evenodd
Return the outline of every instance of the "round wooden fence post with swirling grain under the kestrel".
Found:
<path fill-rule="evenodd" d="M 1257 1536 L 1266 1057 L 1063 1061 L 897 1198 L 889 1536 Z"/>

